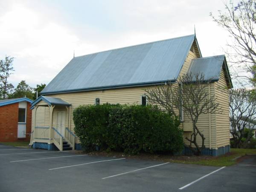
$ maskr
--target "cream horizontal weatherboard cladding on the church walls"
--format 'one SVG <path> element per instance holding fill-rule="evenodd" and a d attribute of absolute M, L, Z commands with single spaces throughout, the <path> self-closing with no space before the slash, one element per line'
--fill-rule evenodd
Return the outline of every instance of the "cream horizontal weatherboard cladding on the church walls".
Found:
<path fill-rule="evenodd" d="M 186 73 L 189 64 L 193 58 L 197 58 L 197 55 L 189 51 L 186 61 L 183 64 L 183 67 L 180 71 L 180 75 Z M 217 87 L 227 87 L 227 83 L 224 77 L 224 72 L 221 72 L 221 78 L 218 82 L 213 82 L 208 87 L 208 91 L 211 95 L 216 94 L 217 101 L 220 102 L 221 106 L 224 107 L 224 114 L 204 114 L 201 115 L 198 119 L 198 128 L 203 132 L 206 140 L 205 145 L 207 148 L 218 148 L 220 146 L 229 145 L 229 120 L 228 120 L 228 98 L 227 95 L 224 95 L 220 92 Z M 151 89 L 151 87 L 128 87 L 128 88 L 118 88 L 118 89 L 109 89 L 109 90 L 95 90 L 95 91 L 84 91 L 76 93 L 59 93 L 47 95 L 51 97 L 57 97 L 63 99 L 64 101 L 72 104 L 71 105 L 71 127 L 70 130 L 74 132 L 74 123 L 73 123 L 73 110 L 79 105 L 94 105 L 95 99 L 99 98 L 100 103 L 110 103 L 110 104 L 140 104 L 141 96 L 144 95 L 144 89 Z M 42 102 L 42 101 L 41 101 Z M 47 105 L 42 102 L 40 105 Z M 65 107 L 56 106 L 53 109 L 52 116 L 52 127 L 55 127 L 56 124 L 56 112 L 65 111 L 65 123 L 68 127 L 68 113 Z M 178 110 L 176 110 L 178 111 Z M 35 109 L 32 110 L 32 129 L 34 128 L 34 115 Z M 178 114 L 178 113 L 177 113 Z M 189 119 L 184 116 L 184 122 L 189 122 Z M 37 109 L 36 115 L 36 125 L 37 126 L 49 126 L 49 107 L 39 106 Z M 183 124 L 180 126 L 183 128 Z M 185 140 L 185 137 L 191 135 L 190 131 L 184 132 L 184 141 L 188 144 L 188 141 Z M 199 143 L 200 138 L 198 137 Z M 79 138 L 76 138 L 76 143 L 80 143 Z"/>

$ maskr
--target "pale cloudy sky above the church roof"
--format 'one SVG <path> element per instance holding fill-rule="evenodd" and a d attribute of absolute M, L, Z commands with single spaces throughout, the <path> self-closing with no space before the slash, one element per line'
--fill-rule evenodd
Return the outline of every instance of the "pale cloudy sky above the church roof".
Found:
<path fill-rule="evenodd" d="M 0 0 L 0 59 L 9 82 L 48 84 L 75 56 L 194 33 L 202 55 L 224 54 L 227 32 L 209 13 L 224 0 Z M 67 77 L 68 78 L 68 77 Z"/>

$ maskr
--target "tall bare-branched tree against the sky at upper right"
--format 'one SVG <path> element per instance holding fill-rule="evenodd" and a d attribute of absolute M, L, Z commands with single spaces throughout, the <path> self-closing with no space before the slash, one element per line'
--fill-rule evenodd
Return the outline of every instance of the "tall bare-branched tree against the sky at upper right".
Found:
<path fill-rule="evenodd" d="M 256 83 L 256 2 L 255 0 L 241 0 L 236 6 L 233 1 L 225 5 L 226 12 L 219 11 L 218 17 L 210 13 L 212 19 L 229 32 L 231 41 L 227 42 L 229 50 L 226 52 L 229 63 L 236 68 L 233 77 L 250 79 Z M 237 73 L 237 67 L 250 72 L 253 77 Z M 244 72 L 244 71 L 240 71 Z M 238 80 L 239 80 L 238 79 Z"/>

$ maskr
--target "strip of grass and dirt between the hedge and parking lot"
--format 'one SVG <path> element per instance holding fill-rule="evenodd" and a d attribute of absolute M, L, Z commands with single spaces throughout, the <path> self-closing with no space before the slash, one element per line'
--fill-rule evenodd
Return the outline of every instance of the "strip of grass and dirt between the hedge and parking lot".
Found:
<path fill-rule="evenodd" d="M 78 151 L 78 153 L 84 153 Z M 87 154 L 87 153 L 86 153 Z M 232 148 L 230 153 L 213 157 L 208 155 L 159 155 L 159 154 L 139 154 L 139 155 L 127 155 L 122 152 L 114 151 L 93 151 L 89 155 L 92 156 L 104 156 L 104 157 L 125 157 L 127 159 L 139 159 L 139 160 L 157 160 L 163 162 L 172 162 L 172 163 L 189 163 L 189 164 L 198 164 L 205 166 L 232 166 L 239 162 L 239 159 L 234 160 L 236 157 L 242 157 L 246 154 L 256 154 L 256 149 L 243 149 L 243 148 Z"/>

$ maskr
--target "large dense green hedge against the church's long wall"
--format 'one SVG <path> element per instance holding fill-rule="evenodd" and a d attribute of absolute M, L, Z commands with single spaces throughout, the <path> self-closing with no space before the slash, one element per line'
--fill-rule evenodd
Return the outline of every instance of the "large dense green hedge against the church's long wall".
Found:
<path fill-rule="evenodd" d="M 183 149 L 179 121 L 155 106 L 83 105 L 73 112 L 76 135 L 86 151 L 126 154 L 177 153 Z"/>

